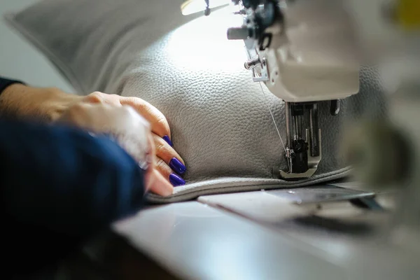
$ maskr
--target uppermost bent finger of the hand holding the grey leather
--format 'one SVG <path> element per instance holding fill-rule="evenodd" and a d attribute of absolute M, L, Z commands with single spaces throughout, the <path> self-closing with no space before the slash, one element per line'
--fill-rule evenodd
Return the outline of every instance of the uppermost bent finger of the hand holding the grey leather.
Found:
<path fill-rule="evenodd" d="M 132 106 L 141 116 L 146 118 L 151 124 L 153 133 L 158 134 L 160 137 L 167 136 L 170 139 L 171 130 L 167 119 L 155 106 L 138 97 L 121 97 L 120 103 Z"/>

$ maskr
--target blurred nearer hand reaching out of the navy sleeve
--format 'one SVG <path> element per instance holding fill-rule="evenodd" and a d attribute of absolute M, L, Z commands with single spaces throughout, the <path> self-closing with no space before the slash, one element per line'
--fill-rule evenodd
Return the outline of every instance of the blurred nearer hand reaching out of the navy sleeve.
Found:
<path fill-rule="evenodd" d="M 88 104 L 71 106 L 57 120 L 94 134 L 108 134 L 146 169 L 145 187 L 158 195 L 172 195 L 173 187 L 156 169 L 155 146 L 148 122 L 130 106 Z"/>

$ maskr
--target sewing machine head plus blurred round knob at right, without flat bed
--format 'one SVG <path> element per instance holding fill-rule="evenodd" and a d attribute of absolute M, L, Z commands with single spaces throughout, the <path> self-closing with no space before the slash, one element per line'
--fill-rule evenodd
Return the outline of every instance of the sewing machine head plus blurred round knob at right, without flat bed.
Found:
<path fill-rule="evenodd" d="M 420 2 L 232 0 L 232 5 L 243 25 L 229 28 L 228 38 L 244 40 L 245 68 L 286 105 L 289 169 L 280 170 L 283 179 L 310 177 L 321 161 L 317 102 L 330 100 L 336 116 L 340 99 L 358 93 L 360 65 L 378 65 L 389 94 L 388 118 L 349 127 L 343 156 L 370 189 L 402 190 L 390 236 L 419 250 Z"/>

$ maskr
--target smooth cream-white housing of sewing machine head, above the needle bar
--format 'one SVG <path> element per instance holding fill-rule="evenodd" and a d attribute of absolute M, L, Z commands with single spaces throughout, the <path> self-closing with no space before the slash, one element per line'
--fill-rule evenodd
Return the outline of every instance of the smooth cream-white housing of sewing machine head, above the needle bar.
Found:
<path fill-rule="evenodd" d="M 359 90 L 359 59 L 353 27 L 340 0 L 284 5 L 272 32 L 265 85 L 286 102 L 344 99 Z"/>

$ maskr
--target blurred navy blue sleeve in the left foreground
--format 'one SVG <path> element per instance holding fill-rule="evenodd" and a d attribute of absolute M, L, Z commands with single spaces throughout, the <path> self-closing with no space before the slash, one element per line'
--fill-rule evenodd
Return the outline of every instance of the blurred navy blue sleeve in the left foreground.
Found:
<path fill-rule="evenodd" d="M 2 248 L 11 244 L 8 260 L 28 269 L 69 253 L 143 201 L 142 170 L 106 137 L 0 121 L 0 159 Z"/>

